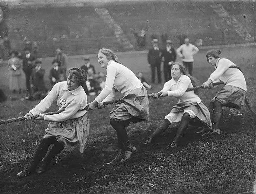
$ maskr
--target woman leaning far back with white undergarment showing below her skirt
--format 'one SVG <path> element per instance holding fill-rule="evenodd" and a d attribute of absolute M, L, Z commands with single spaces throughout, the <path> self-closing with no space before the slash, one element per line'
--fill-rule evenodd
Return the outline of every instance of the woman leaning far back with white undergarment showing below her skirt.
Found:
<path fill-rule="evenodd" d="M 209 110 L 204 106 L 202 100 L 194 91 L 186 92 L 188 88 L 192 88 L 192 77 L 186 75 L 186 67 L 181 63 L 175 62 L 171 67 L 171 79 L 164 83 L 160 97 L 176 97 L 178 103 L 173 106 L 171 112 L 164 117 L 163 122 L 157 129 L 149 136 L 144 144 L 153 142 L 153 139 L 161 132 L 165 131 L 171 123 L 180 122 L 178 130 L 173 142 L 168 145 L 168 148 L 177 149 L 178 141 L 181 135 L 187 129 L 188 124 L 202 126 L 205 122 L 211 126 Z M 155 93 L 153 98 L 158 98 Z"/>

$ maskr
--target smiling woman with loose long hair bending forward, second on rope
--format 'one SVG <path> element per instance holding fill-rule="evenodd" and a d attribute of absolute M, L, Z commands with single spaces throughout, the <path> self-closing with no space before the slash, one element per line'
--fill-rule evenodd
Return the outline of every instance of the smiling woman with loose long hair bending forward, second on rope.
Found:
<path fill-rule="evenodd" d="M 117 161 L 125 163 L 137 152 L 129 141 L 126 127 L 130 122 L 148 120 L 147 90 L 136 75 L 119 62 L 112 50 L 99 50 L 98 62 L 102 68 L 107 69 L 106 85 L 95 100 L 88 104 L 88 110 L 96 106 L 103 108 L 102 102 L 113 100 L 115 89 L 124 96 L 110 112 L 110 124 L 117 132 L 118 150 L 116 157 L 107 164 L 115 164 Z"/>

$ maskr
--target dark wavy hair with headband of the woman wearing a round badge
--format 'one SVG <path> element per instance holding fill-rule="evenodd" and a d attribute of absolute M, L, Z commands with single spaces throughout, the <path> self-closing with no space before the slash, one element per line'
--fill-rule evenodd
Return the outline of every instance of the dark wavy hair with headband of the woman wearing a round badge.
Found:
<path fill-rule="evenodd" d="M 74 78 L 78 82 L 79 86 L 85 84 L 87 80 L 86 71 L 78 67 L 69 68 L 66 71 L 66 77 Z"/>

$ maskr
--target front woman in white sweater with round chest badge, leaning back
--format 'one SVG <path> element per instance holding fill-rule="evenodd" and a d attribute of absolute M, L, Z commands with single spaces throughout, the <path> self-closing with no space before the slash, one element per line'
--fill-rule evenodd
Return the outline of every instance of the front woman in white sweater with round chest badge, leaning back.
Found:
<path fill-rule="evenodd" d="M 66 76 L 67 81 L 56 83 L 48 95 L 25 115 L 27 121 L 31 120 L 31 115 L 38 115 L 36 120 L 50 122 L 32 163 L 17 174 L 18 178 L 27 177 L 34 172 L 38 174 L 45 172 L 50 161 L 64 147 L 75 156 L 83 156 L 89 134 L 89 118 L 87 111 L 83 110 L 87 105 L 87 96 L 81 84 L 86 81 L 87 76 L 84 70 L 76 67 L 67 70 Z M 60 113 L 42 114 L 55 100 L 57 100 Z M 53 147 L 45 157 L 51 144 Z M 42 159 L 43 161 L 40 162 Z"/>

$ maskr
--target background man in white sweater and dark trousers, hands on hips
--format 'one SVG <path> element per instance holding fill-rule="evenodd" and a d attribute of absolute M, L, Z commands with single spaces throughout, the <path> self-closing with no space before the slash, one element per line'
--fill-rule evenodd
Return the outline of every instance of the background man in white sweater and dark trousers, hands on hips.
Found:
<path fill-rule="evenodd" d="M 195 45 L 189 43 L 189 38 L 185 38 L 184 41 L 185 44 L 180 45 L 176 52 L 178 56 L 181 57 L 181 61 L 188 70 L 190 76 L 193 76 L 193 56 L 199 51 L 199 49 Z"/>

